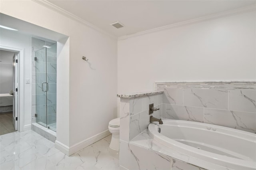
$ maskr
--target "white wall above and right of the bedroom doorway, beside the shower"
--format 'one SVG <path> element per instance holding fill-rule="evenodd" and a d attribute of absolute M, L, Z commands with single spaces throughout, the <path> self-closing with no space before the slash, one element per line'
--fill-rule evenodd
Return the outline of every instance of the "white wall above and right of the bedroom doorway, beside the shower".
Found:
<path fill-rule="evenodd" d="M 1 29 L 0 31 L 0 45 L 14 47 L 19 49 L 24 49 L 24 62 L 26 67 L 25 78 L 31 81 L 31 37 L 27 35 L 20 34 L 19 32 Z M 24 95 L 24 127 L 31 125 L 31 84 L 25 84 L 25 95 Z M 12 87 L 11 87 L 12 89 Z"/>

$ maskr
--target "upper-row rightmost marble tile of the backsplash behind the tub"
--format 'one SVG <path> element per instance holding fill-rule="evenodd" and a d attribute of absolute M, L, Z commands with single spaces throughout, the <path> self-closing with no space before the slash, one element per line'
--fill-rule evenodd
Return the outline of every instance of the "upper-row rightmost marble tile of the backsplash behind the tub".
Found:
<path fill-rule="evenodd" d="M 256 90 L 229 90 L 229 110 L 256 113 Z"/>

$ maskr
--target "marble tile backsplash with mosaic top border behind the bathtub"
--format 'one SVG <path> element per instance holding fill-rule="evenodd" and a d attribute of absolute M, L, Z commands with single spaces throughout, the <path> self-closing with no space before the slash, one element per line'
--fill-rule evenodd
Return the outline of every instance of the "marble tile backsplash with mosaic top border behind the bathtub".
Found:
<path fill-rule="evenodd" d="M 162 118 L 256 132 L 256 82 L 156 83 Z"/>

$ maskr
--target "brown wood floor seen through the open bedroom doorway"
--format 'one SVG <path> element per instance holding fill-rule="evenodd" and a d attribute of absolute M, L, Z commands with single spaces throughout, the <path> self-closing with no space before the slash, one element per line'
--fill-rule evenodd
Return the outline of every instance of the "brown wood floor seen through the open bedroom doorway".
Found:
<path fill-rule="evenodd" d="M 0 114 L 0 135 L 15 132 L 12 125 L 12 112 L 5 112 Z"/>

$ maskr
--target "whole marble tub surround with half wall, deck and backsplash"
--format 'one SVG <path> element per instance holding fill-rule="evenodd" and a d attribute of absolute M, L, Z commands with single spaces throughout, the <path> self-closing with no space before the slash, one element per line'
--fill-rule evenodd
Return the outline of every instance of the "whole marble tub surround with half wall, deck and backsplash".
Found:
<path fill-rule="evenodd" d="M 144 93 L 118 95 L 120 169 L 204 170 L 197 166 L 200 160 L 167 148 L 148 135 L 151 103 L 160 108 L 153 113 L 158 119 L 196 121 L 256 132 L 255 81 L 156 83 L 156 89 L 161 93 L 147 93 L 146 97 Z M 200 165 L 221 169 L 207 162 Z"/>

